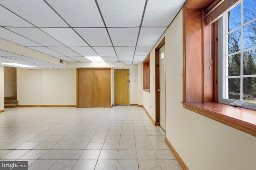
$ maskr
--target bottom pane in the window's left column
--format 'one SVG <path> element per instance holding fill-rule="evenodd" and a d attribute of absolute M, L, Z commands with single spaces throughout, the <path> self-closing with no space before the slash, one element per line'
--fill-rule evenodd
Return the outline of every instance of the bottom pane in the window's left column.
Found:
<path fill-rule="evenodd" d="M 228 99 L 240 100 L 240 78 L 228 79 Z"/>

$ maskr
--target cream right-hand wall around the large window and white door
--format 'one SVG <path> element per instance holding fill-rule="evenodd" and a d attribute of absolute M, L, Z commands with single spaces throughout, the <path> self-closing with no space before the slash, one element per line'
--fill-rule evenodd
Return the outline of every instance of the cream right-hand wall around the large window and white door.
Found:
<path fill-rule="evenodd" d="M 182 104 L 182 12 L 164 33 L 166 49 L 166 137 L 190 170 L 251 170 L 256 167 L 256 137 L 184 109 Z M 162 39 L 162 38 L 161 38 Z M 154 101 L 154 49 L 150 53 L 150 94 Z M 152 62 L 153 61 L 153 62 Z M 167 66 L 168 65 L 168 66 Z M 153 84 L 152 84 L 153 83 Z M 150 100 L 148 100 L 150 98 Z"/>

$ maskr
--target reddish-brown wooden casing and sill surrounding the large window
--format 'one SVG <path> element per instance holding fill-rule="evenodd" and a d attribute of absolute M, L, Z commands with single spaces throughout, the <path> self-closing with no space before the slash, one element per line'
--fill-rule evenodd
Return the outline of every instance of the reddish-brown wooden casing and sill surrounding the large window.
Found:
<path fill-rule="evenodd" d="M 218 23 L 206 24 L 213 0 L 187 0 L 183 10 L 183 107 L 256 136 L 255 110 L 218 103 Z"/>

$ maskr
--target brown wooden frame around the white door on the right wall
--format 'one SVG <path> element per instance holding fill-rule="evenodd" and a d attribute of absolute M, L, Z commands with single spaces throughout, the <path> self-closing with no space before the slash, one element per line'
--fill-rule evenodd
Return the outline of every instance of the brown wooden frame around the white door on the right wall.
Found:
<path fill-rule="evenodd" d="M 155 125 L 160 125 L 160 92 L 158 92 L 159 86 L 159 49 L 165 45 L 165 37 L 160 41 L 160 43 L 156 46 L 155 49 L 155 76 L 156 76 L 156 86 L 155 86 L 155 92 L 156 92 L 156 123 Z"/>

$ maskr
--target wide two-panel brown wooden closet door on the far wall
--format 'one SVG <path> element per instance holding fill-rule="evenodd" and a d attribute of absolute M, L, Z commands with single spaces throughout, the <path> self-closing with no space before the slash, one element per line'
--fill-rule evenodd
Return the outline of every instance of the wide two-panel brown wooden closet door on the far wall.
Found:
<path fill-rule="evenodd" d="M 77 69 L 77 107 L 110 107 L 110 68 Z"/>

